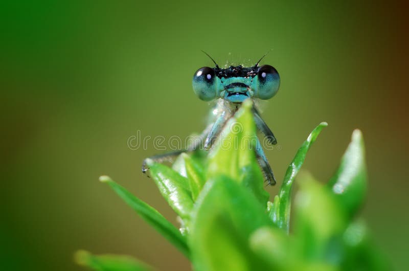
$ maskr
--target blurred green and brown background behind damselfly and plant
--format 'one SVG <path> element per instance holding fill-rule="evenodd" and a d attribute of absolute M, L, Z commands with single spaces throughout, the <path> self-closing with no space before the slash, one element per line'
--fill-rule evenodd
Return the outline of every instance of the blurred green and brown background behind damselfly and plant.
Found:
<path fill-rule="evenodd" d="M 127 140 L 186 137 L 209 105 L 193 73 L 274 65 L 281 88 L 263 118 L 281 150 L 278 179 L 321 121 L 304 169 L 325 182 L 353 129 L 363 131 L 362 216 L 397 270 L 407 263 L 407 6 L 399 3 L 79 1 L 2 3 L 1 258 L 5 270 L 81 270 L 77 249 L 136 256 L 160 270 L 189 262 L 98 176 L 109 174 L 176 224 L 144 157 Z M 279 182 L 280 183 L 280 182 Z M 271 194 L 278 186 L 267 188 Z"/>

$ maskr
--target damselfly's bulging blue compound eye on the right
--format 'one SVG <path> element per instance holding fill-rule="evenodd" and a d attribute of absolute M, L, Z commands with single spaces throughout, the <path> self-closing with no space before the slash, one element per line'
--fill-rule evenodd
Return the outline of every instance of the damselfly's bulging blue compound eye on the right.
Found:
<path fill-rule="evenodd" d="M 267 100 L 276 95 L 280 87 L 280 76 L 276 69 L 270 65 L 262 65 L 255 78 L 254 96 Z"/>

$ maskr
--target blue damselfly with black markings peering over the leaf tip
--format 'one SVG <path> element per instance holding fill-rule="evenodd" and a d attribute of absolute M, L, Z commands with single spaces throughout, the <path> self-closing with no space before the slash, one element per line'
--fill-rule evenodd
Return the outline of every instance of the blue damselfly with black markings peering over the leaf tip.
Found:
<path fill-rule="evenodd" d="M 142 171 L 147 171 L 147 161 L 149 160 L 155 162 L 170 161 L 181 152 L 196 150 L 200 142 L 203 141 L 204 149 L 211 149 L 225 124 L 234 116 L 244 100 L 268 100 L 276 95 L 280 86 L 280 76 L 277 70 L 270 65 L 259 66 L 264 56 L 254 66 L 244 67 L 238 65 L 229 66 L 225 69 L 221 69 L 216 61 L 209 56 L 214 62 L 215 67 L 201 67 L 194 74 L 192 82 L 193 91 L 200 100 L 217 100 L 215 107 L 212 108 L 212 120 L 200 135 L 202 141 L 195 141 L 187 150 L 151 156 L 144 160 Z M 253 106 L 253 116 L 257 128 L 265 135 L 268 143 L 272 145 L 277 144 L 274 134 L 261 118 L 255 105 Z M 275 185 L 274 173 L 267 161 L 259 139 L 257 139 L 257 144 L 255 144 L 255 152 L 258 163 L 264 172 L 266 182 L 270 185 Z"/>

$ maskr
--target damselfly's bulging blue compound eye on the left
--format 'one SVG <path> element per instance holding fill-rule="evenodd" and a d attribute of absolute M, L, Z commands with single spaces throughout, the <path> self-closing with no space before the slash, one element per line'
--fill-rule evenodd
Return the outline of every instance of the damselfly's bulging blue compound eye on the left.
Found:
<path fill-rule="evenodd" d="M 211 67 L 202 67 L 193 76 L 193 91 L 200 100 L 210 101 L 217 96 L 216 74 Z"/>

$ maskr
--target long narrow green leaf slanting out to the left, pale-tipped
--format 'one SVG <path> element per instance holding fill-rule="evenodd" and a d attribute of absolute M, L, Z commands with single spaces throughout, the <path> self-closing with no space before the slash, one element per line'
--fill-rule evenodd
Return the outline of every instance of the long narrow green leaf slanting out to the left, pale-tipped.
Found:
<path fill-rule="evenodd" d="M 135 212 L 168 239 L 176 248 L 189 258 L 189 247 L 185 237 L 166 218 L 144 201 L 129 193 L 125 188 L 113 182 L 108 176 L 101 176 L 100 181 L 107 183 Z"/>

